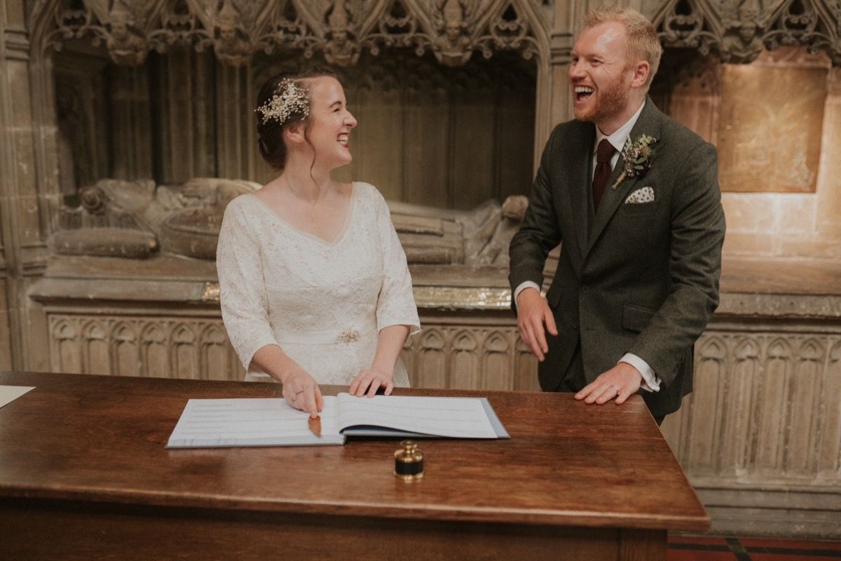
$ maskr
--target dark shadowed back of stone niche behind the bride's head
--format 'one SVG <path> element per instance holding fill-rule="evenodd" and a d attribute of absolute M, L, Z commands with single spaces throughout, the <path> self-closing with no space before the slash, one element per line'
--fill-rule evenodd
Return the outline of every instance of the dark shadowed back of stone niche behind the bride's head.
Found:
<path fill-rule="evenodd" d="M 62 193 L 77 204 L 79 189 L 106 178 L 267 183 L 278 172 L 257 152 L 257 91 L 278 72 L 317 62 L 256 55 L 230 67 L 210 53 L 173 48 L 152 52 L 141 66 L 118 66 L 104 50 L 68 42 L 56 54 Z M 332 70 L 359 123 L 354 161 L 336 177 L 373 183 L 389 200 L 443 209 L 528 192 L 533 61 L 502 52 L 449 67 L 431 53 L 397 49 Z"/>

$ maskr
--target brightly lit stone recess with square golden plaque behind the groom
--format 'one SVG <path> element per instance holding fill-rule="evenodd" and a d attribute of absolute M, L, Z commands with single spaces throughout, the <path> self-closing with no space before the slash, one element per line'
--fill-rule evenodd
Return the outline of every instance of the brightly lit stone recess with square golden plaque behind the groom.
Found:
<path fill-rule="evenodd" d="M 841 69 L 825 53 L 667 50 L 652 95 L 718 148 L 725 255 L 841 260 Z"/>

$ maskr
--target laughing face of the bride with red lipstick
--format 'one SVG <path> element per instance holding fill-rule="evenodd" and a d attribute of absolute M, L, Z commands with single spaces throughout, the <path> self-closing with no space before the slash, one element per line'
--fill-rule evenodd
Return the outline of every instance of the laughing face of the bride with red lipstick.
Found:
<path fill-rule="evenodd" d="M 334 169 L 350 163 L 350 135 L 357 126 L 347 110 L 345 91 L 336 78 L 309 81 L 309 124 L 306 135 L 315 149 L 316 165 Z"/>

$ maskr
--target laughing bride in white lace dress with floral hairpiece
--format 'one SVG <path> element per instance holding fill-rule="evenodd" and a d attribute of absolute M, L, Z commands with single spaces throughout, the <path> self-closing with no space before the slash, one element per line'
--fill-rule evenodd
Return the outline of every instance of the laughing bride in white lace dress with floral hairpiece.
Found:
<path fill-rule="evenodd" d="M 257 97 L 263 158 L 280 175 L 228 204 L 216 267 L 222 318 L 246 380 L 278 380 L 317 415 L 318 384 L 356 395 L 409 384 L 400 350 L 420 330 L 383 196 L 338 183 L 357 120 L 330 71 L 272 77 Z"/>

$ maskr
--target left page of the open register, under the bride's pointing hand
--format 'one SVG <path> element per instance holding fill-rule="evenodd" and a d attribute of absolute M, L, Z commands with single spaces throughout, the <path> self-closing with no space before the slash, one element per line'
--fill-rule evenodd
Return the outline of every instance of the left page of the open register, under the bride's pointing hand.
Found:
<path fill-rule="evenodd" d="M 321 437 L 309 430 L 309 413 L 283 399 L 189 400 L 167 448 L 298 446 L 343 444 L 338 431 L 336 398 L 325 396 Z"/>

